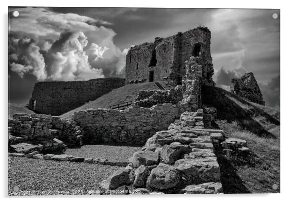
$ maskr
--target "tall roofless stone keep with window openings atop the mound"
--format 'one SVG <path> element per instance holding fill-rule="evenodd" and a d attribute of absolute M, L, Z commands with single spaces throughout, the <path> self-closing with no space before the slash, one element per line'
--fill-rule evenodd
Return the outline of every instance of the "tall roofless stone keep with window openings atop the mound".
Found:
<path fill-rule="evenodd" d="M 166 38 L 156 37 L 154 43 L 132 47 L 126 57 L 126 84 L 165 82 L 181 85 L 186 74 L 184 62 L 197 57 L 202 66 L 202 84 L 214 86 L 211 58 L 211 32 L 206 27 Z"/>

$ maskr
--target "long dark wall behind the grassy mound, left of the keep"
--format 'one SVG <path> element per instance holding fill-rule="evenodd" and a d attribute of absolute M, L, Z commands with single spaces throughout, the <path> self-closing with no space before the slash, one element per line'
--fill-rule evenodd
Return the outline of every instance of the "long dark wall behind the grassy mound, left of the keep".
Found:
<path fill-rule="evenodd" d="M 34 85 L 29 108 L 37 113 L 62 115 L 123 85 L 123 78 L 39 82 Z"/>

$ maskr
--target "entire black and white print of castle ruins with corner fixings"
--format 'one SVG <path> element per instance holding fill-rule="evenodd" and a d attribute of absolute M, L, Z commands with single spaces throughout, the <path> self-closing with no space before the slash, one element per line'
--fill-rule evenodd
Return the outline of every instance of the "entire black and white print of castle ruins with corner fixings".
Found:
<path fill-rule="evenodd" d="M 281 192 L 279 7 L 68 6 L 8 7 L 8 197 Z"/>

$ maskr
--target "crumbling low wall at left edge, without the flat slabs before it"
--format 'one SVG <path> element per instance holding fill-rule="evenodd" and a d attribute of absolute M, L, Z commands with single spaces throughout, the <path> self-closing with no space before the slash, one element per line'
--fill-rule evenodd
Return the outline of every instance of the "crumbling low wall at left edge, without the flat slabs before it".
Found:
<path fill-rule="evenodd" d="M 46 114 L 16 113 L 8 119 L 9 144 L 58 138 L 67 145 L 80 145 L 81 128 L 76 122 Z"/>

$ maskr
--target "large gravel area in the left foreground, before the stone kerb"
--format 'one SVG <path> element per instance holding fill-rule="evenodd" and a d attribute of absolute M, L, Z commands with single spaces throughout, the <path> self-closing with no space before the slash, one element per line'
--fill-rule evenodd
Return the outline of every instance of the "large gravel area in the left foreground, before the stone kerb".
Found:
<path fill-rule="evenodd" d="M 50 195 L 88 194 L 87 191 L 97 190 L 99 183 L 119 168 L 8 156 L 8 194 L 16 195 L 15 186 L 19 191 L 30 191 L 22 195 L 39 195 L 33 191 L 45 191 L 43 194 L 59 191 Z"/>

